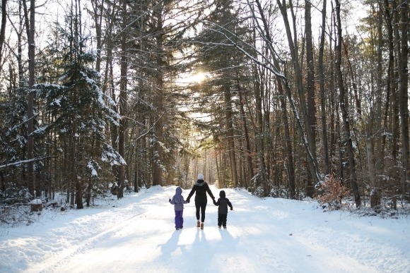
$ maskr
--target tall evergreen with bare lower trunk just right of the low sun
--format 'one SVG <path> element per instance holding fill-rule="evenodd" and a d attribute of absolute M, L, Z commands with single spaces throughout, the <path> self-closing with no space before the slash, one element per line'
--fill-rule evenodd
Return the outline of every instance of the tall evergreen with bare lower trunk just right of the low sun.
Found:
<path fill-rule="evenodd" d="M 242 92 L 241 79 L 247 78 L 247 71 L 240 68 L 245 63 L 245 56 L 240 52 L 226 51 L 224 44 L 230 40 L 247 39 L 247 32 L 240 20 L 238 11 L 233 8 L 233 1 L 218 1 L 209 16 L 209 23 L 195 38 L 197 51 L 198 70 L 210 73 L 211 77 L 201 83 L 201 98 L 199 105 L 204 105 L 204 100 L 210 99 L 216 105 L 211 111 L 213 126 L 221 126 L 221 136 L 226 140 L 229 158 L 230 178 L 233 187 L 238 186 L 237 153 L 235 145 L 235 119 L 238 105 L 235 102 L 238 92 Z M 238 37 L 238 38 L 236 38 Z M 206 112 L 200 107 L 199 112 Z"/>

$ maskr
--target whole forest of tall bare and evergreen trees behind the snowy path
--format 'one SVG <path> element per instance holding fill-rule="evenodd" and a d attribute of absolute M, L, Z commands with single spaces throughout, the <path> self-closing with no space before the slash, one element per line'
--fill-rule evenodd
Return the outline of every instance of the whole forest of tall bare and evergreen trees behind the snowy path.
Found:
<path fill-rule="evenodd" d="M 405 207 L 409 16 L 406 0 L 1 0 L 0 209 L 198 173 Z"/>

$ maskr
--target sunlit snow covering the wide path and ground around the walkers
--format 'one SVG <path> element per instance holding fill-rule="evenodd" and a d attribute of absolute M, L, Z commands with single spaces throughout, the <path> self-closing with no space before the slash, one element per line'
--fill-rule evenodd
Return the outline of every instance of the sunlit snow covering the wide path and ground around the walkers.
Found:
<path fill-rule="evenodd" d="M 233 204 L 228 229 L 218 229 L 211 200 L 197 229 L 192 198 L 176 231 L 175 186 L 83 210 L 44 208 L 33 224 L 0 227 L 0 272 L 410 272 L 408 216 L 322 212 L 312 200 L 224 190 Z"/>

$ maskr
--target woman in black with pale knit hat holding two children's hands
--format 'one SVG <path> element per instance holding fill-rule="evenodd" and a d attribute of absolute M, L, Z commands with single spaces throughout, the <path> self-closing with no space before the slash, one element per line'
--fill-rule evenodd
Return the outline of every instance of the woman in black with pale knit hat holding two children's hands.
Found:
<path fill-rule="evenodd" d="M 215 198 L 213 197 L 211 189 L 209 189 L 208 183 L 204 181 L 204 174 L 198 174 L 198 180 L 196 183 L 194 183 L 194 186 L 192 187 L 192 190 L 187 197 L 187 202 L 189 202 L 189 200 L 195 192 L 195 207 L 197 208 L 197 227 L 201 227 L 201 229 L 204 229 L 205 209 L 206 202 L 208 201 L 206 198 L 206 192 L 208 192 L 213 202 L 215 202 Z M 201 210 L 201 222 L 199 222 L 199 210 Z"/>

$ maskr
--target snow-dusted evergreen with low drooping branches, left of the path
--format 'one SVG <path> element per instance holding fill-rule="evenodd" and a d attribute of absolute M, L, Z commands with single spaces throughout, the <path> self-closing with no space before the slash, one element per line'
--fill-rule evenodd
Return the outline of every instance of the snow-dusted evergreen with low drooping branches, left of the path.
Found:
<path fill-rule="evenodd" d="M 85 183 L 102 181 L 105 164 L 119 165 L 125 161 L 106 141 L 107 121 L 117 124 L 119 116 L 111 109 L 115 102 L 98 85 L 100 73 L 90 68 L 95 54 L 84 50 L 87 38 L 82 35 L 77 8 L 68 16 L 68 28 L 59 27 L 62 42 L 53 49 L 62 52 L 63 73 L 59 83 L 41 83 L 35 88 L 45 99 L 45 111 L 54 116 L 54 121 L 45 124 L 43 130 L 53 129 L 58 134 L 61 150 L 65 151 L 61 156 L 70 162 L 66 169 L 75 188 L 71 195 L 75 197 L 76 207 L 81 209 Z M 71 203 L 74 204 L 74 198 Z"/>

